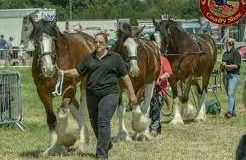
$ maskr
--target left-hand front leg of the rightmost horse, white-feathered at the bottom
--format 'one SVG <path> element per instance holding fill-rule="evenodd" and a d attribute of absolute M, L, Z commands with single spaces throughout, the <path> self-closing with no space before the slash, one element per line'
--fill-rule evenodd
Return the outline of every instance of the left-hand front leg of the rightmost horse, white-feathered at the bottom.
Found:
<path fill-rule="evenodd" d="M 172 88 L 173 93 L 173 108 L 174 108 L 174 118 L 172 119 L 171 123 L 176 124 L 184 124 L 184 121 L 180 115 L 180 108 L 179 108 L 179 99 L 178 99 L 178 87 L 177 87 L 177 80 L 170 78 L 169 79 L 170 86 Z"/>

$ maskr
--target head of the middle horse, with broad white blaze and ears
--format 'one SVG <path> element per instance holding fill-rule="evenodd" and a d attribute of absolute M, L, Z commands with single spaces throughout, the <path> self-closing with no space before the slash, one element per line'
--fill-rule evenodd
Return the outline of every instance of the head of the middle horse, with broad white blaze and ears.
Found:
<path fill-rule="evenodd" d="M 130 70 L 129 74 L 132 77 L 136 77 L 139 74 L 138 67 L 138 50 L 140 44 L 140 34 L 142 33 L 144 27 L 136 30 L 132 30 L 129 24 L 124 23 L 120 26 L 118 31 L 118 39 L 123 42 L 122 46 L 122 56 L 124 59 L 129 59 Z"/>

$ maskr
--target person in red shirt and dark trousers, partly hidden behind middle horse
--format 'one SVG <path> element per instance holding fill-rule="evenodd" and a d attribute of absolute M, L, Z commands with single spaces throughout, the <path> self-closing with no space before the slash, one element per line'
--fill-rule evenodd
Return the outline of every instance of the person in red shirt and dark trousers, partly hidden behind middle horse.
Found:
<path fill-rule="evenodd" d="M 160 111 L 166 93 L 167 79 L 170 77 L 170 74 L 172 74 L 169 61 L 162 55 L 160 56 L 160 61 L 160 75 L 156 81 L 153 97 L 150 102 L 150 133 L 153 136 L 161 133 Z"/>

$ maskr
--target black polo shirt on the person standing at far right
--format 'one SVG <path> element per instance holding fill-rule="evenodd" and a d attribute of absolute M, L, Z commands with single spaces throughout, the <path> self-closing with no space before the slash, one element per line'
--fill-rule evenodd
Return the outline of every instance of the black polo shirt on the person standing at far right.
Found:
<path fill-rule="evenodd" d="M 231 71 L 227 71 L 227 73 L 231 74 L 239 74 L 240 66 L 241 66 L 241 56 L 238 51 L 233 47 L 230 52 L 225 52 L 222 56 L 222 62 L 226 62 L 226 64 L 236 64 L 238 68 L 233 69 Z"/>

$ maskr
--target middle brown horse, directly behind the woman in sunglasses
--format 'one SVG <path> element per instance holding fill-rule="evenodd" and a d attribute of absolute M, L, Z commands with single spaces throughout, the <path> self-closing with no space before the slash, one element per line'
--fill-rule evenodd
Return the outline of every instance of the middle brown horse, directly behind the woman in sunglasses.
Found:
<path fill-rule="evenodd" d="M 141 104 L 141 107 L 136 107 L 136 110 L 139 109 L 138 111 L 140 111 L 146 118 L 149 117 L 150 100 L 153 94 L 155 81 L 159 76 L 160 52 L 153 42 L 140 38 L 142 30 L 143 28 L 132 30 L 130 25 L 124 23 L 118 30 L 118 39 L 113 45 L 112 50 L 121 54 L 123 57 L 139 103 L 144 91 L 144 102 Z M 120 87 L 122 95 L 125 86 L 120 83 Z M 120 125 L 117 139 L 129 140 L 131 138 L 129 137 L 125 127 L 125 108 L 121 99 L 119 104 L 117 115 Z M 137 112 L 136 110 L 135 112 Z M 139 114 L 133 114 L 133 116 L 135 115 Z M 138 121 L 139 119 L 141 118 L 136 116 L 133 117 L 134 121 Z M 138 124 L 135 124 L 134 121 L 132 121 L 132 127 L 135 131 L 138 130 L 138 132 L 140 132 L 140 130 L 144 131 L 148 128 L 148 123 L 146 121 L 145 125 L 140 125 L 141 127 L 138 126 Z M 141 129 L 139 129 L 139 127 Z"/>

